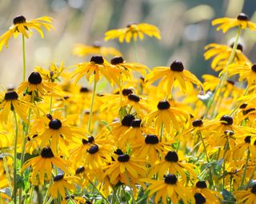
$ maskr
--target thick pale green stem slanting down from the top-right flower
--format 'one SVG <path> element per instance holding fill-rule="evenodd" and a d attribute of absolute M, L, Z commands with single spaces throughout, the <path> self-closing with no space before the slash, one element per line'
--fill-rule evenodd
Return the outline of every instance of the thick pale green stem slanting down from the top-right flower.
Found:
<path fill-rule="evenodd" d="M 232 52 L 230 54 L 230 58 L 227 61 L 226 67 L 228 65 L 230 65 L 234 61 L 234 56 L 235 56 L 235 52 L 236 52 L 236 50 L 238 48 L 238 39 L 239 39 L 241 30 L 242 30 L 242 28 L 239 26 L 238 27 L 238 33 L 237 33 L 237 35 L 235 37 L 235 40 L 234 40 L 233 49 L 232 49 Z M 226 67 L 225 67 L 225 69 L 226 69 Z M 209 100 L 209 102 L 207 104 L 206 114 L 205 114 L 204 117 L 207 117 L 211 107 L 214 108 L 214 111 L 212 112 L 211 118 L 213 118 L 214 114 L 216 114 L 216 112 L 218 111 L 218 107 L 217 107 L 218 97 L 220 96 L 220 92 L 221 92 L 221 90 L 222 90 L 222 88 L 223 88 L 223 86 L 225 84 L 225 81 L 226 81 L 227 77 L 228 77 L 228 73 L 227 72 L 222 74 L 222 76 L 220 78 L 220 82 L 218 83 L 218 85 L 217 85 L 217 87 L 215 89 L 214 95 L 212 96 L 212 98 Z"/>

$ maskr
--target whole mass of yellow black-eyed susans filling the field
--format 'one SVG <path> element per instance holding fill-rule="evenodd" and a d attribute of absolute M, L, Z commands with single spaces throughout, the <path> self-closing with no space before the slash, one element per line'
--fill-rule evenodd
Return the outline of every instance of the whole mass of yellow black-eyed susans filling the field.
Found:
<path fill-rule="evenodd" d="M 151 70 L 96 43 L 75 46 L 74 54 L 93 56 L 74 72 L 63 63 L 38 66 L 0 92 L 0 202 L 256 203 L 256 65 L 238 44 L 241 30 L 256 24 L 246 14 L 212 23 L 238 34 L 230 46 L 206 46 L 221 72 L 203 83 L 182 61 Z M 0 48 L 18 34 L 25 45 L 31 29 L 43 37 L 43 27 L 53 27 L 51 18 L 18 16 Z M 144 34 L 161 38 L 143 23 L 110 30 L 105 40 Z M 112 91 L 97 92 L 102 77 Z"/>

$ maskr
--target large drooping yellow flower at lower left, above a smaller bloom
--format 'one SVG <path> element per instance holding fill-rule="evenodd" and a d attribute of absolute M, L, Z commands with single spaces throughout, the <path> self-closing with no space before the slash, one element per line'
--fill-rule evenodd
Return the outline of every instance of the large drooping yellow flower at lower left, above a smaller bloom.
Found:
<path fill-rule="evenodd" d="M 52 178 L 51 171 L 53 170 L 53 166 L 60 168 L 62 171 L 68 172 L 66 161 L 58 156 L 54 156 L 54 153 L 50 147 L 43 147 L 41 155 L 29 159 L 22 167 L 22 170 L 24 171 L 27 167 L 31 167 L 32 182 L 36 183 L 36 176 L 39 174 L 39 181 L 41 184 L 43 184 L 45 174 L 48 180 Z"/>

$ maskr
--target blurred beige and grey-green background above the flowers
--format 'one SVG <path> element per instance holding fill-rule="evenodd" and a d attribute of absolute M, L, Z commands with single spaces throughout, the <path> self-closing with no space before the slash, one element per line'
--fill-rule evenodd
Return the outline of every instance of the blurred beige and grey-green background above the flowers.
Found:
<path fill-rule="evenodd" d="M 44 15 L 54 18 L 54 30 L 44 32 L 41 39 L 34 31 L 26 39 L 26 63 L 30 73 L 35 66 L 48 68 L 51 62 L 64 61 L 66 66 L 89 61 L 90 57 L 72 54 L 76 43 L 92 45 L 100 41 L 104 46 L 120 50 L 126 61 L 134 61 L 131 44 L 118 40 L 104 41 L 108 29 L 126 27 L 134 22 L 158 26 L 162 40 L 145 37 L 138 41 L 139 61 L 153 68 L 181 60 L 200 79 L 204 73 L 213 73 L 210 61 L 203 57 L 204 47 L 211 43 L 230 45 L 235 29 L 225 35 L 210 25 L 214 18 L 236 18 L 240 12 L 256 22 L 256 1 L 252 0 L 1 0 L 0 34 L 12 25 L 13 18 L 23 15 L 30 20 Z M 246 30 L 240 40 L 244 52 L 255 61 L 256 35 Z M 110 59 L 108 59 L 110 60 Z M 22 80 L 22 37 L 10 38 L 9 48 L 0 52 L 3 88 L 17 85 Z"/>

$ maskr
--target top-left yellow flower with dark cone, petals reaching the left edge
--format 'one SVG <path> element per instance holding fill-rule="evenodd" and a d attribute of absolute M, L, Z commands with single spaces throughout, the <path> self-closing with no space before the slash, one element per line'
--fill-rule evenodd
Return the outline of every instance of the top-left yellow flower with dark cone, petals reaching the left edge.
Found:
<path fill-rule="evenodd" d="M 26 21 L 24 16 L 17 16 L 14 18 L 14 25 L 10 26 L 9 30 L 6 33 L 3 33 L 0 37 L 0 50 L 2 50 L 3 45 L 6 45 L 6 48 L 8 47 L 8 41 L 12 35 L 14 35 L 14 37 L 18 37 L 18 33 L 22 33 L 23 36 L 28 38 L 29 34 L 27 31 L 30 31 L 30 35 L 32 34 L 30 29 L 36 29 L 43 38 L 42 27 L 50 30 L 53 28 L 53 26 L 50 24 L 51 21 L 52 18 L 47 16 L 35 18 L 30 21 Z"/>

